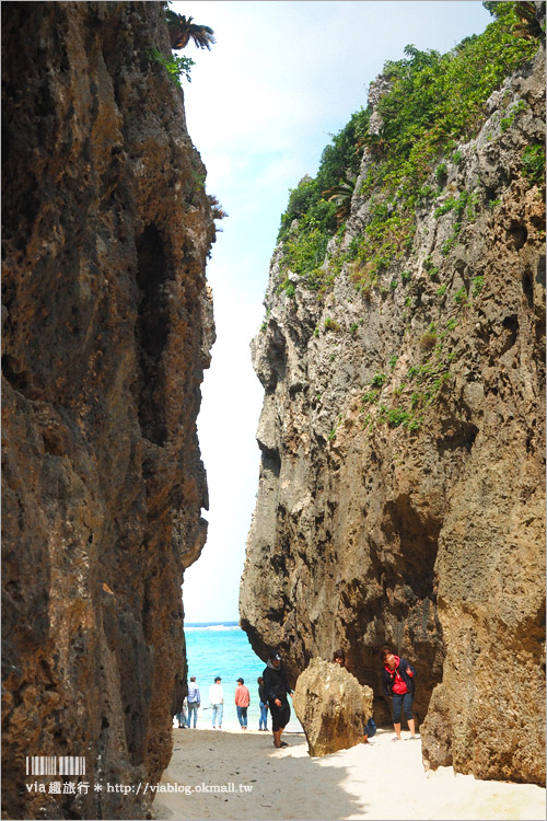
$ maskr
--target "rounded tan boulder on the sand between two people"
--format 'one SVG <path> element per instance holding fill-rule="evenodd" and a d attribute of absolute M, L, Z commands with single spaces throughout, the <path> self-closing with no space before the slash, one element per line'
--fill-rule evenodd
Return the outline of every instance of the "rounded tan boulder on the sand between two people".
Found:
<path fill-rule="evenodd" d="M 372 716 L 372 690 L 330 661 L 312 659 L 299 675 L 294 712 L 304 728 L 310 755 L 328 755 L 363 740 Z"/>

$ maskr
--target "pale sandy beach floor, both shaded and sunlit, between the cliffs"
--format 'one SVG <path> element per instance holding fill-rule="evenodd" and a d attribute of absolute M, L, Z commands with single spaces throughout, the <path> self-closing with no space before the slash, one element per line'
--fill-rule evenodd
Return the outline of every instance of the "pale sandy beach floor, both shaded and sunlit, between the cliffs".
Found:
<path fill-rule="evenodd" d="M 286 733 L 290 745 L 276 750 L 270 732 L 173 732 L 153 805 L 162 821 L 545 819 L 545 789 L 476 780 L 452 767 L 424 772 L 420 743 L 405 732 L 394 743 L 393 731 L 379 730 L 369 744 L 322 759 L 309 756 L 302 733 Z"/>

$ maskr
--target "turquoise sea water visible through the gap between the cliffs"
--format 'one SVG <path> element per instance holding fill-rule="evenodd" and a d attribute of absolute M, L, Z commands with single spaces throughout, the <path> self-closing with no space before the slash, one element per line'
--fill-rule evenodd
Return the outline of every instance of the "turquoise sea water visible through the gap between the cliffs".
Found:
<path fill-rule="evenodd" d="M 222 679 L 224 691 L 224 717 L 222 726 L 226 729 L 238 728 L 235 712 L 236 680 L 243 679 L 251 694 L 247 712 L 249 730 L 258 730 L 260 708 L 258 706 L 257 678 L 263 674 L 265 662 L 255 655 L 237 622 L 188 622 L 184 626 L 186 636 L 186 656 L 188 659 L 188 682 L 196 677 L 196 684 L 201 694 L 201 709 L 198 714 L 198 728 L 211 728 L 209 708 L 209 687 L 214 678 Z M 268 730 L 271 731 L 271 719 L 268 710 Z M 302 732 L 302 727 L 292 709 L 288 732 Z"/>

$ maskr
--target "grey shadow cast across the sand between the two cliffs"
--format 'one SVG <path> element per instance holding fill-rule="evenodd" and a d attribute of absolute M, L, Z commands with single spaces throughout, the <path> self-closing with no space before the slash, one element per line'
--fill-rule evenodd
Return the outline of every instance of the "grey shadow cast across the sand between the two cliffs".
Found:
<path fill-rule="evenodd" d="M 191 788 L 191 794 L 159 793 L 155 818 L 336 821 L 365 816 L 365 805 L 341 786 L 346 767 L 311 759 L 303 733 L 284 733 L 283 740 L 289 747 L 276 750 L 270 733 L 175 730 L 173 758 L 161 784 Z M 230 791 L 220 791 L 222 786 Z"/>

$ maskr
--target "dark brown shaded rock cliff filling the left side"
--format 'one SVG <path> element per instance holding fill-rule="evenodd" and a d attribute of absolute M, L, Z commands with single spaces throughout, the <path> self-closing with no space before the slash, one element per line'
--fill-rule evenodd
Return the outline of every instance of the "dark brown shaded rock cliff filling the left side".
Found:
<path fill-rule="evenodd" d="M 142 818 L 106 784 L 159 779 L 186 687 L 205 167 L 161 3 L 4 3 L 2 48 L 3 817 Z M 89 794 L 26 793 L 27 755 Z"/>

